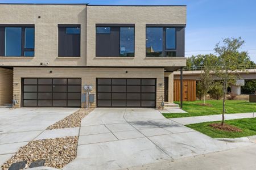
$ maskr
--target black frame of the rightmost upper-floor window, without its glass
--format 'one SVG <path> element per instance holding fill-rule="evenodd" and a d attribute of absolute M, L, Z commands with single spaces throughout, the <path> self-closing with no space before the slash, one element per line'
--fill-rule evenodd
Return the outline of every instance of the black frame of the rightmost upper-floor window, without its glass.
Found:
<path fill-rule="evenodd" d="M 146 43 L 145 43 L 145 46 L 146 46 L 146 44 L 147 44 L 147 28 L 163 28 L 163 50 L 162 50 L 162 52 L 163 52 L 163 56 L 159 56 L 159 57 L 167 57 L 166 56 L 166 54 L 167 54 L 167 52 L 175 52 L 175 57 L 176 57 L 176 55 L 177 55 L 177 28 L 176 27 L 174 27 L 174 26 L 170 26 L 170 27 L 168 27 L 168 26 L 164 26 L 164 27 L 162 27 L 162 26 L 158 26 L 158 25 L 146 25 Z M 167 41 L 167 39 L 166 39 L 166 28 L 175 28 L 175 49 L 167 49 L 166 48 L 166 41 Z M 147 56 L 147 46 L 146 46 L 146 51 L 145 51 L 145 54 L 146 54 L 146 57 L 155 57 L 155 56 Z"/>

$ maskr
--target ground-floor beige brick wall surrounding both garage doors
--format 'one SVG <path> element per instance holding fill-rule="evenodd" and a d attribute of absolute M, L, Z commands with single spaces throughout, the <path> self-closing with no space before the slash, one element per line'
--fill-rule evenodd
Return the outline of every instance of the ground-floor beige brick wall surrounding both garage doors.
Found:
<path fill-rule="evenodd" d="M 52 71 L 52 73 L 49 73 Z M 128 71 L 128 73 L 126 73 Z M 96 78 L 156 78 L 156 107 L 159 108 L 164 97 L 164 69 L 141 68 L 40 68 L 14 67 L 14 96 L 19 100 L 20 107 L 21 78 L 82 78 L 82 85 L 92 84 L 92 94 L 96 94 Z M 17 83 L 17 85 L 15 85 Z M 159 86 L 159 83 L 162 86 Z M 82 90 L 82 92 L 84 92 Z M 95 102 L 92 107 L 95 107 Z M 82 104 L 85 107 L 85 103 Z"/>

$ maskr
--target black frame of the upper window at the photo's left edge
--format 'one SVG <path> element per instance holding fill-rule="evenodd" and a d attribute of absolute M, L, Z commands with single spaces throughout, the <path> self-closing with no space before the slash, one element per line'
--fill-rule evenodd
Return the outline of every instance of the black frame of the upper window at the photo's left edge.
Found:
<path fill-rule="evenodd" d="M 6 28 L 21 28 L 21 48 L 20 48 L 20 56 L 6 56 L 5 55 L 5 41 L 6 41 L 6 37 L 5 37 L 5 33 L 6 33 Z M 1 37 L 1 40 L 3 39 L 3 42 L 1 44 L 1 57 L 35 57 L 35 25 L 34 24 L 0 24 L 0 28 L 4 29 L 3 31 L 3 37 Z M 26 39 L 26 35 L 25 35 L 25 29 L 26 28 L 34 28 L 34 48 L 25 48 L 25 39 Z M 3 46 L 3 47 L 2 47 Z M 24 56 L 24 52 L 34 52 L 33 56 Z"/>

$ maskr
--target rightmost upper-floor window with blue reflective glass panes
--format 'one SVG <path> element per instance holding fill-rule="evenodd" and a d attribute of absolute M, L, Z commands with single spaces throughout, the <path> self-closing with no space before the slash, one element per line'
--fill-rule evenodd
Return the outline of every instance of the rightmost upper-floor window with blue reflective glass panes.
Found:
<path fill-rule="evenodd" d="M 147 27 L 146 57 L 175 57 L 176 28 Z"/>

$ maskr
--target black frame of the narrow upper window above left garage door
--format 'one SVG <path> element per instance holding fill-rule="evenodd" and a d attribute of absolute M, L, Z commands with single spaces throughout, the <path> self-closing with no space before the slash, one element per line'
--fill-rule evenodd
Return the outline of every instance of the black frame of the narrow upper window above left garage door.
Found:
<path fill-rule="evenodd" d="M 80 28 L 80 32 L 79 32 L 79 34 L 78 33 L 67 33 L 67 28 Z M 59 39 L 60 39 L 60 31 L 59 31 L 59 28 L 65 28 L 65 36 L 66 35 L 79 35 L 79 39 L 80 39 L 80 42 L 79 42 L 79 45 L 80 45 L 80 50 L 79 50 L 79 55 L 77 55 L 77 56 L 67 56 L 67 54 L 66 54 L 66 49 L 64 49 L 64 51 L 65 51 L 65 55 L 61 55 L 60 54 L 60 41 L 59 41 Z M 58 48 L 58 57 L 63 57 L 63 58 L 65 58 L 65 57 L 72 57 L 72 58 L 80 58 L 81 57 L 81 24 L 58 24 L 58 27 L 57 27 L 57 36 L 58 36 L 58 39 L 57 39 L 57 48 Z M 66 42 L 65 42 L 65 45 L 66 45 Z M 64 48 L 65 48 L 65 45 L 64 45 Z"/>

